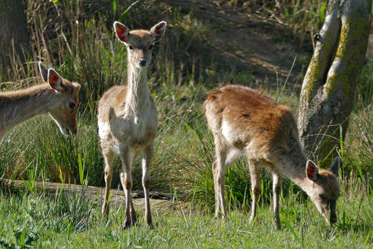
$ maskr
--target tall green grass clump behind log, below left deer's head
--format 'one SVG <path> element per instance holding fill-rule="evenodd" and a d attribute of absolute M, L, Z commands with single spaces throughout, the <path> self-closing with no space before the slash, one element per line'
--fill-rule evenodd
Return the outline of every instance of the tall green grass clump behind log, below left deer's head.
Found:
<path fill-rule="evenodd" d="M 79 183 L 80 157 L 89 183 L 99 185 L 103 173 L 96 127 L 80 121 L 78 129 L 66 138 L 48 117 L 20 124 L 1 143 L 4 177 L 27 179 L 28 169 L 37 168 L 38 180 L 59 182 L 61 171 L 66 183 Z"/>

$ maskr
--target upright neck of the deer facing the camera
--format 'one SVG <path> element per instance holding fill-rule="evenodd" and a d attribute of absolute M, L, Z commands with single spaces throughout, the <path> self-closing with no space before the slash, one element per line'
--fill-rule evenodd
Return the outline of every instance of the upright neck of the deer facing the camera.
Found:
<path fill-rule="evenodd" d="M 149 106 L 148 70 L 128 65 L 128 91 L 125 112 L 139 113 Z"/>

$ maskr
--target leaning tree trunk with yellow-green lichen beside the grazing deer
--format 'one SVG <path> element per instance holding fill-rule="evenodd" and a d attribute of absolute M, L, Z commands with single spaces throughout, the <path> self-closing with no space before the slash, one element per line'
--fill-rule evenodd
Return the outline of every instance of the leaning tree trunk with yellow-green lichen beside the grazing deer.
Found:
<path fill-rule="evenodd" d="M 339 145 L 340 136 L 345 136 L 365 59 L 371 10 L 372 0 L 328 3 L 298 109 L 300 140 L 305 151 L 319 160 Z"/>

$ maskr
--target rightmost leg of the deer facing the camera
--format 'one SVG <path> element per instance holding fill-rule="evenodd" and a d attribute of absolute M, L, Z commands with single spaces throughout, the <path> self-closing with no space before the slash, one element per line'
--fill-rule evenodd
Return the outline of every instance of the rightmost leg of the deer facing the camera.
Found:
<path fill-rule="evenodd" d="M 153 221 L 151 219 L 151 207 L 150 207 L 150 200 L 149 200 L 149 185 L 150 185 L 150 177 L 149 177 L 149 169 L 150 169 L 150 162 L 153 156 L 153 144 L 149 145 L 144 150 L 144 154 L 142 156 L 142 187 L 144 188 L 144 198 L 145 198 L 145 221 L 151 227 L 153 225 Z"/>

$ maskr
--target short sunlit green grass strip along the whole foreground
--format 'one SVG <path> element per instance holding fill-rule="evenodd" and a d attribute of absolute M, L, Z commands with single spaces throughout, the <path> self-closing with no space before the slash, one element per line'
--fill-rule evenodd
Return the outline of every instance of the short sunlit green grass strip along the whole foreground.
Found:
<path fill-rule="evenodd" d="M 183 203 L 153 210 L 155 228 L 138 213 L 137 226 L 124 230 L 123 208 L 108 222 L 100 207 L 75 194 L 0 193 L 0 248 L 372 248 L 372 195 L 343 189 L 338 223 L 325 221 L 312 203 L 296 195 L 280 198 L 283 228 L 276 230 L 269 205 L 260 205 L 255 223 L 242 210 L 229 211 L 222 223 L 213 214 Z M 11 210 L 11 212 L 10 212 Z"/>

